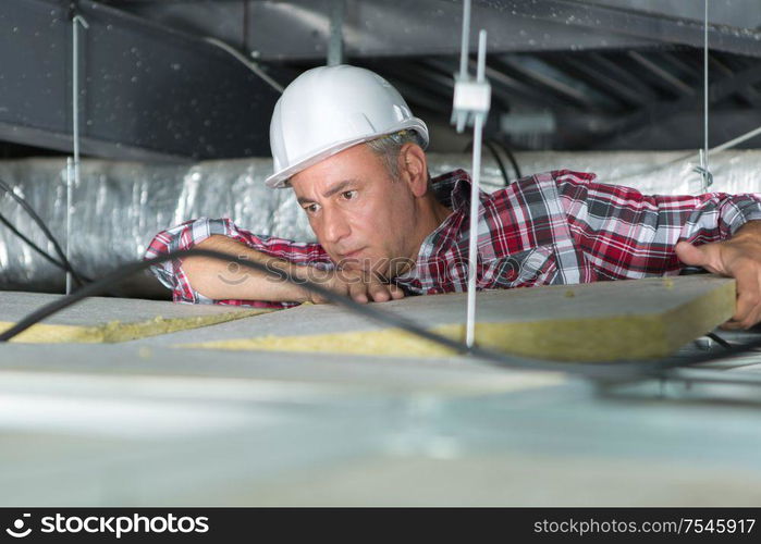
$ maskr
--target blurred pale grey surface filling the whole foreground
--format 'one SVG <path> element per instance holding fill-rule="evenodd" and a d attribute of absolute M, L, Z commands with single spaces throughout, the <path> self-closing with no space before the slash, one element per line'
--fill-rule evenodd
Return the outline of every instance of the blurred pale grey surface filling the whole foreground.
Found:
<path fill-rule="evenodd" d="M 761 504 L 758 388 L 168 347 L 259 319 L 0 345 L 0 505 Z"/>

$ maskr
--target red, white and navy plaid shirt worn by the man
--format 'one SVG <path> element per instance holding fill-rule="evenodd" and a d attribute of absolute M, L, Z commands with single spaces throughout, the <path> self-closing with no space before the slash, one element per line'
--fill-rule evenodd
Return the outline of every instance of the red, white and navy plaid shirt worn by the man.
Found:
<path fill-rule="evenodd" d="M 513 288 L 678 274 L 674 246 L 719 242 L 761 220 L 761 197 L 709 193 L 646 196 L 596 175 L 568 170 L 535 174 L 492 194 L 480 193 L 477 287 Z M 467 288 L 470 180 L 456 170 L 433 180 L 453 213 L 424 240 L 416 265 L 394 282 L 407 294 Z M 334 268 L 319 244 L 257 236 L 229 219 L 198 219 L 158 234 L 146 258 L 189 249 L 222 234 L 299 264 Z M 286 308 L 295 302 L 210 300 L 193 289 L 181 263 L 154 267 L 175 301 Z"/>

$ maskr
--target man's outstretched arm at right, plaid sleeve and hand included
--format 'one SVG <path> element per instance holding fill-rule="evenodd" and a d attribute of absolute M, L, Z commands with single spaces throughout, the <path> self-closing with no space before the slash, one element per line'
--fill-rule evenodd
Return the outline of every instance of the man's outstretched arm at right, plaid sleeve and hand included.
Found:
<path fill-rule="evenodd" d="M 726 327 L 761 320 L 761 196 L 642 195 L 594 183 L 593 174 L 553 172 L 575 244 L 604 276 L 676 274 L 685 265 L 737 280 Z"/>

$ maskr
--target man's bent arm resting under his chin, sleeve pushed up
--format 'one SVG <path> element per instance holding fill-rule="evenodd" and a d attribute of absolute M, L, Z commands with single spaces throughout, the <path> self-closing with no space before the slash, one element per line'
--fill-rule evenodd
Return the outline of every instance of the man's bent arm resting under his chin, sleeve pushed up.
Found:
<path fill-rule="evenodd" d="M 238 228 L 230 220 L 188 221 L 156 235 L 146 258 L 181 249 L 217 250 L 285 271 L 293 277 L 311 281 L 358 302 L 402 298 L 404 292 L 379 279 L 358 272 L 334 270 L 324 250 L 317 244 L 262 237 Z M 161 283 L 173 292 L 175 301 L 243 304 L 290 307 L 304 301 L 327 300 L 303 285 L 275 274 L 206 257 L 188 257 L 152 267 Z"/>

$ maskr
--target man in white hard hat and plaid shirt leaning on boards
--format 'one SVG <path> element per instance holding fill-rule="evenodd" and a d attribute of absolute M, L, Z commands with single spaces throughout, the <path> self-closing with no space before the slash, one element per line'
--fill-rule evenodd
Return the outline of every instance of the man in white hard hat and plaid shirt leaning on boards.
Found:
<path fill-rule="evenodd" d="M 346 65 L 305 72 L 274 108 L 270 144 L 267 184 L 293 187 L 318 244 L 200 219 L 158 234 L 146 257 L 213 249 L 360 302 L 465 290 L 469 178 L 462 170 L 430 178 L 428 129 L 384 79 Z M 737 312 L 725 326 L 761 320 L 761 198 L 645 196 L 594 178 L 554 171 L 481 193 L 478 288 L 674 275 L 687 264 L 737 279 Z M 323 301 L 214 259 L 167 262 L 155 273 L 179 301 Z"/>

